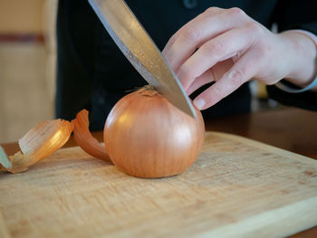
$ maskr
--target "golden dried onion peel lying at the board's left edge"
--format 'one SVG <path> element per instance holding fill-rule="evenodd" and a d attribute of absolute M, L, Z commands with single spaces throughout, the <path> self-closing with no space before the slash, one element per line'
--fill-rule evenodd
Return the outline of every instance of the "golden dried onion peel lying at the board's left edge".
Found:
<path fill-rule="evenodd" d="M 73 124 L 62 119 L 45 120 L 30 129 L 19 139 L 21 151 L 9 157 L 11 165 L 5 161 L 0 152 L 1 169 L 11 173 L 19 173 L 33 166 L 36 162 L 53 154 L 67 142 L 72 134 Z M 7 158 L 7 157 L 6 157 Z M 5 164 L 6 162 L 6 164 Z M 9 165 L 9 166 L 8 166 Z"/>

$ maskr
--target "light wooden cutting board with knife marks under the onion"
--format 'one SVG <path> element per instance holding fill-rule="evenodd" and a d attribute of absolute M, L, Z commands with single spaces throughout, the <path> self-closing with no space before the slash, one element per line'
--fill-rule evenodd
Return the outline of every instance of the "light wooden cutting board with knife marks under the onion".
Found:
<path fill-rule="evenodd" d="M 0 174 L 0 237 L 279 237 L 316 224 L 317 161 L 222 133 L 180 176 L 127 176 L 80 148 Z"/>

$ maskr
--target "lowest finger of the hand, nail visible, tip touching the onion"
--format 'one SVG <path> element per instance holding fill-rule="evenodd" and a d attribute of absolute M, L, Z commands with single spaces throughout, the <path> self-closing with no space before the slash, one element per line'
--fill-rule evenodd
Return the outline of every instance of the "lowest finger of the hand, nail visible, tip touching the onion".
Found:
<path fill-rule="evenodd" d="M 262 67 L 261 54 L 246 52 L 223 77 L 194 100 L 197 109 L 207 109 L 252 79 Z"/>

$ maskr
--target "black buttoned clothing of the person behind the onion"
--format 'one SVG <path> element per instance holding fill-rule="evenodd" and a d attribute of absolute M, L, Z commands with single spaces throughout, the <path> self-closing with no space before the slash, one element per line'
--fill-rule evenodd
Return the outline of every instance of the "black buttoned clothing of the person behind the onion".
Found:
<path fill-rule="evenodd" d="M 162 50 L 168 39 L 210 6 L 240 7 L 257 22 L 279 30 L 305 29 L 317 33 L 317 1 L 293 0 L 127 0 L 127 4 Z M 73 119 L 81 109 L 91 111 L 92 129 L 102 129 L 117 100 L 146 81 L 113 43 L 87 0 L 60 0 L 57 21 L 58 79 L 56 117 Z M 279 99 L 279 91 L 273 91 Z M 239 90 L 204 110 L 205 118 L 250 110 L 250 90 Z M 317 101 L 317 100 L 315 100 Z M 313 106 L 317 109 L 317 105 Z M 312 107 L 312 108 L 313 108 Z"/>

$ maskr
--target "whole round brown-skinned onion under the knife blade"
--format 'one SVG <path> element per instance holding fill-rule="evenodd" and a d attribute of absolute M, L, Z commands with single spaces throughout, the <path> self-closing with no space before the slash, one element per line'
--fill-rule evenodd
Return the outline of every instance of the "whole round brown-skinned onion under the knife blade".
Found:
<path fill-rule="evenodd" d="M 103 137 L 115 166 L 130 176 L 165 177 L 184 172 L 197 159 L 205 138 L 203 117 L 194 119 L 157 91 L 141 89 L 119 100 Z"/>

